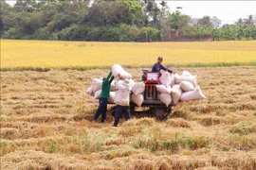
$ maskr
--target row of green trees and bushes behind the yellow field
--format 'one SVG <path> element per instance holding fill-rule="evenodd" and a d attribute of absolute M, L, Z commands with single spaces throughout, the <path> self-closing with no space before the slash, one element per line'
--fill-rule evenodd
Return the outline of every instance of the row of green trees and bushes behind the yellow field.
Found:
<path fill-rule="evenodd" d="M 0 0 L 0 33 L 3 39 L 160 42 L 176 35 L 213 41 L 256 40 L 255 17 L 248 15 L 221 26 L 217 17 L 204 16 L 196 23 L 180 8 L 171 11 L 155 0 Z"/>

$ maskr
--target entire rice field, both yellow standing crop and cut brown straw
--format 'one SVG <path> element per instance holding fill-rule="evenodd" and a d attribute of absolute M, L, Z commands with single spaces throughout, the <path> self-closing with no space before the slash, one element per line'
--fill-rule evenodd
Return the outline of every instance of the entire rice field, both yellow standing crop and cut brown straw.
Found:
<path fill-rule="evenodd" d="M 1 40 L 0 169 L 255 170 L 255 46 Z M 207 99 L 180 103 L 163 122 L 132 115 L 112 127 L 109 111 L 104 124 L 91 122 L 91 78 L 119 63 L 140 81 L 158 56 L 197 75 Z"/>

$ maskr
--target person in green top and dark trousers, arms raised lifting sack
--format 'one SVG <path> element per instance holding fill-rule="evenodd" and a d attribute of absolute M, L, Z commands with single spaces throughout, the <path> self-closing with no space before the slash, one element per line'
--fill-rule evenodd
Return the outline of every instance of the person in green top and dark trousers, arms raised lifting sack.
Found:
<path fill-rule="evenodd" d="M 99 108 L 96 110 L 93 121 L 96 122 L 99 116 L 101 115 L 101 123 L 104 123 L 106 120 L 106 111 L 107 111 L 107 99 L 110 97 L 110 84 L 113 81 L 114 76 L 112 72 L 108 74 L 107 77 L 104 77 L 102 80 L 101 87 L 101 97 L 99 102 Z"/>

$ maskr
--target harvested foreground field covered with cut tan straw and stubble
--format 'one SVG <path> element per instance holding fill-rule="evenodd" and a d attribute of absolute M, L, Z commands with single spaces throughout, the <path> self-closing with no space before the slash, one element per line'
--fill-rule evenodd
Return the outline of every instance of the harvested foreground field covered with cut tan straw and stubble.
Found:
<path fill-rule="evenodd" d="M 84 92 L 109 69 L 1 72 L 0 169 L 255 170 L 255 66 L 172 69 L 197 75 L 208 98 L 119 127 L 110 112 L 92 123 L 98 100 Z"/>

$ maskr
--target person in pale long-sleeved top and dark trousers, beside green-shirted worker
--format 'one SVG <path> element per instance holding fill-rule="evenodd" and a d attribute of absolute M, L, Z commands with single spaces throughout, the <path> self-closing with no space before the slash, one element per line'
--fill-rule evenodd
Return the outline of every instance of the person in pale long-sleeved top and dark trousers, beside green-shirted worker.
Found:
<path fill-rule="evenodd" d="M 126 78 L 124 80 L 119 80 L 117 84 L 117 93 L 115 96 L 116 111 L 115 111 L 115 122 L 113 127 L 118 127 L 119 118 L 122 112 L 124 112 L 125 120 L 131 118 L 130 115 L 130 93 L 132 90 L 132 82 L 130 79 Z"/>

